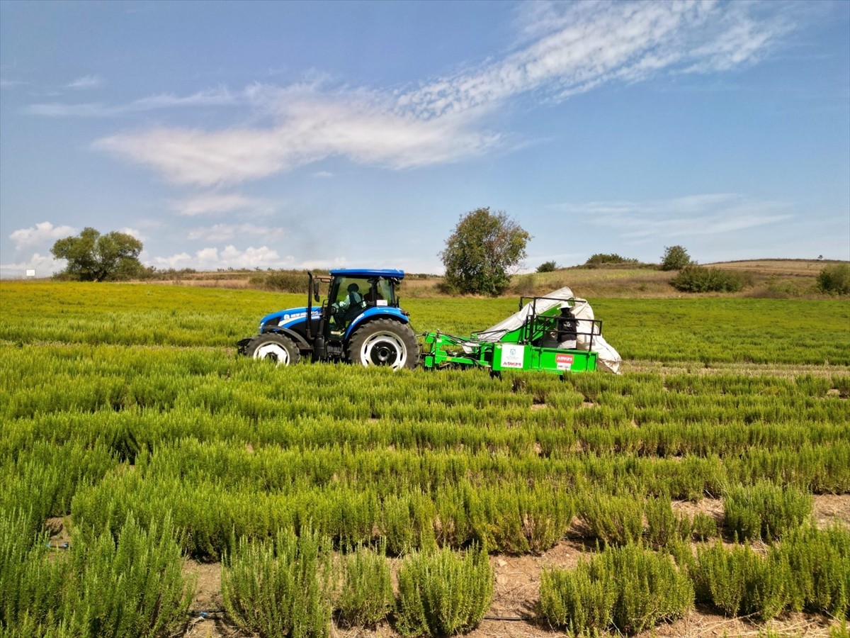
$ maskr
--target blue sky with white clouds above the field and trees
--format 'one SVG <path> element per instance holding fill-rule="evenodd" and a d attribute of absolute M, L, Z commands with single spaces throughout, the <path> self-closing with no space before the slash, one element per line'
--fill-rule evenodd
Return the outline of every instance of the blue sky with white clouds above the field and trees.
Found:
<path fill-rule="evenodd" d="M 850 259 L 850 3 L 0 2 L 0 275 Z"/>

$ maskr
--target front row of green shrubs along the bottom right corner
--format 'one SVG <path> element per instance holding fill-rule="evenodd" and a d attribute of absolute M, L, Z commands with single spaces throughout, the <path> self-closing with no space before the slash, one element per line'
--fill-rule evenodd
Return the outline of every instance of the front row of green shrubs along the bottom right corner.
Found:
<path fill-rule="evenodd" d="M 850 533 L 799 527 L 763 551 L 748 544 L 726 548 L 719 540 L 695 554 L 682 543 L 669 554 L 628 544 L 606 548 L 575 569 L 541 575 L 541 616 L 570 636 L 637 634 L 682 618 L 694 602 L 761 620 L 784 611 L 847 618 Z"/>

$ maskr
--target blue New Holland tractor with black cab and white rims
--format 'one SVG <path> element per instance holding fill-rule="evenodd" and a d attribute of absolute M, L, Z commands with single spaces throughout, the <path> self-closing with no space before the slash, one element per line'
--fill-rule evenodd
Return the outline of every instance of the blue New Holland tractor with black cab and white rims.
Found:
<path fill-rule="evenodd" d="M 419 344 L 396 296 L 404 276 L 404 271 L 374 269 L 331 271 L 331 276 L 309 272 L 307 305 L 263 316 L 259 333 L 241 339 L 239 351 L 279 366 L 305 359 L 412 369 L 419 362 Z M 320 283 L 329 284 L 324 301 Z"/>

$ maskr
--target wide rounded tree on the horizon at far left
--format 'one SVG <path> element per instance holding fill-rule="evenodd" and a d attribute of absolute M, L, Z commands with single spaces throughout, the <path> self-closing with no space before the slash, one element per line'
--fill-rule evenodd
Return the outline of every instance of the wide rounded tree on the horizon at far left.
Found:
<path fill-rule="evenodd" d="M 79 235 L 54 243 L 50 252 L 56 259 L 67 259 L 61 274 L 81 282 L 130 279 L 144 271 L 139 261 L 142 242 L 123 232 L 101 235 L 94 228 L 84 228 Z"/>

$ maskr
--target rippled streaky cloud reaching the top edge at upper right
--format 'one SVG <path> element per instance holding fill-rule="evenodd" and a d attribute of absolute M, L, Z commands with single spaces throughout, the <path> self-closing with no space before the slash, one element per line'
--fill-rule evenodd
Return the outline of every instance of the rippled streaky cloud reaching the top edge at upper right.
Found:
<path fill-rule="evenodd" d="M 526 6 L 526 5 L 524 5 Z M 756 61 L 789 30 L 757 18 L 747 3 L 529 3 L 530 43 L 502 60 L 440 78 L 399 96 L 399 105 L 437 117 L 539 92 L 562 100 L 612 81 L 662 71 L 727 71 Z"/>

